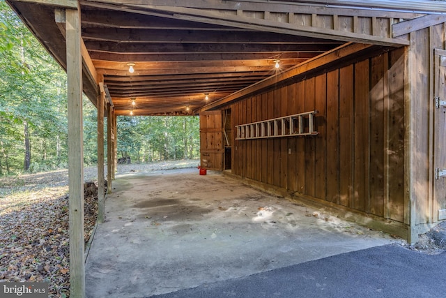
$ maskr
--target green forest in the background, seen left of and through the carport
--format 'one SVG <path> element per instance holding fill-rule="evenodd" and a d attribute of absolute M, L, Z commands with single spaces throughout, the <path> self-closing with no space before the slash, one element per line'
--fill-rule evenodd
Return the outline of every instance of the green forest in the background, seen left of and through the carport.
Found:
<path fill-rule="evenodd" d="M 0 176 L 67 167 L 66 73 L 3 0 L 0 72 Z M 93 165 L 97 112 L 85 96 L 83 107 L 84 163 Z M 118 157 L 132 163 L 199 157 L 194 116 L 118 117 L 117 137 Z"/>

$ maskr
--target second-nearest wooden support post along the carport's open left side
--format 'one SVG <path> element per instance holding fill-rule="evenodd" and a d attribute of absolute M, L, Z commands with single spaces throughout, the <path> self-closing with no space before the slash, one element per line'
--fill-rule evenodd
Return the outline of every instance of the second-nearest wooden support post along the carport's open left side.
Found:
<path fill-rule="evenodd" d="M 105 219 L 104 194 L 104 100 L 105 91 L 98 96 L 98 222 Z"/>

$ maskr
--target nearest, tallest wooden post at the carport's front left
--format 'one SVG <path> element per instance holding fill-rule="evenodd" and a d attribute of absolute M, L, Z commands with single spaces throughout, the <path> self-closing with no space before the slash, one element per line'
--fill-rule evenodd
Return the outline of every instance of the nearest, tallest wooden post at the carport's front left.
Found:
<path fill-rule="evenodd" d="M 67 9 L 68 184 L 70 195 L 70 293 L 72 297 L 85 297 L 81 40 L 79 10 Z"/>

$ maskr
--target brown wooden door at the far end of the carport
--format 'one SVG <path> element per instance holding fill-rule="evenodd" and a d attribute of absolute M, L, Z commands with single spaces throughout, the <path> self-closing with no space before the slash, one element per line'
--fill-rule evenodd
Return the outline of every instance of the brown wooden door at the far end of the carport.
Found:
<path fill-rule="evenodd" d="M 201 167 L 223 170 L 224 142 L 222 111 L 200 113 Z"/>

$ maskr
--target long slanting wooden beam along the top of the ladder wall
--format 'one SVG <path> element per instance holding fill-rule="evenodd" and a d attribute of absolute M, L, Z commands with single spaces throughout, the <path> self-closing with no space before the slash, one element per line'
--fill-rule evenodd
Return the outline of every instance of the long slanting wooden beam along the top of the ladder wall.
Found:
<path fill-rule="evenodd" d="M 318 70 L 321 69 L 326 70 L 328 69 L 328 66 L 336 63 L 339 64 L 339 61 L 342 61 L 343 59 L 350 59 L 351 57 L 355 57 L 353 59 L 361 59 L 360 52 L 371 50 L 372 48 L 373 45 L 364 45 L 362 43 L 348 43 L 319 57 L 309 59 L 303 64 L 290 68 L 289 70 L 285 70 L 284 73 L 268 77 L 265 80 L 262 80 L 240 91 L 237 91 L 230 96 L 226 96 L 225 98 L 210 103 L 209 105 L 201 108 L 200 112 L 214 110 L 224 105 L 228 105 L 233 101 L 243 98 L 244 96 L 255 94 L 256 92 L 259 92 L 263 89 L 268 89 L 271 86 L 276 86 L 277 84 L 281 84 L 283 82 L 286 82 L 287 80 L 291 80 L 293 79 L 293 77 L 302 77 L 309 73 L 316 73 Z"/>

